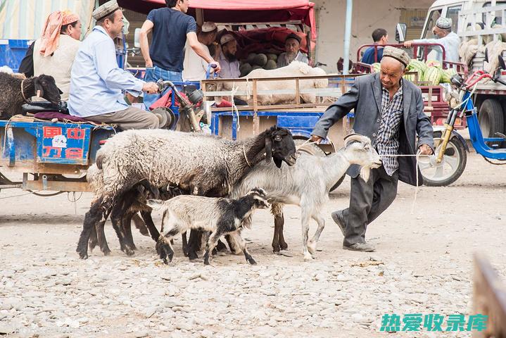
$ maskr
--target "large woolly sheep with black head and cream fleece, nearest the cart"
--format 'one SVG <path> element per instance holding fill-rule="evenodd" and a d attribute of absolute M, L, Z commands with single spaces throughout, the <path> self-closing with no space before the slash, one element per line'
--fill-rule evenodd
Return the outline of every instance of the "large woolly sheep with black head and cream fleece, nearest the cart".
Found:
<path fill-rule="evenodd" d="M 136 184 L 146 181 L 157 189 L 173 186 L 203 196 L 226 196 L 263 159 L 274 161 L 278 168 L 283 161 L 295 163 L 295 144 L 288 130 L 271 127 L 238 142 L 171 130 L 116 134 L 99 150 L 96 165 L 91 167 L 94 175 L 88 181 L 96 197 L 84 218 L 77 252 L 87 258 L 91 228 L 103 232 L 103 222 L 113 206 L 121 205 L 123 194 Z M 122 242 L 123 235 L 118 237 Z"/>

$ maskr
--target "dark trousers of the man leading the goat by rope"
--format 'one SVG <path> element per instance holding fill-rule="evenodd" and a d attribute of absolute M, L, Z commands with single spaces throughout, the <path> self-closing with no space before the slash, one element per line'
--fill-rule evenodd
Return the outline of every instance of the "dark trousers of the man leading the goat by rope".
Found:
<path fill-rule="evenodd" d="M 367 225 L 396 199 L 397 182 L 398 171 L 390 176 L 383 166 L 372 169 L 367 182 L 352 177 L 350 207 L 343 211 L 346 220 L 344 245 L 365 242 Z"/>

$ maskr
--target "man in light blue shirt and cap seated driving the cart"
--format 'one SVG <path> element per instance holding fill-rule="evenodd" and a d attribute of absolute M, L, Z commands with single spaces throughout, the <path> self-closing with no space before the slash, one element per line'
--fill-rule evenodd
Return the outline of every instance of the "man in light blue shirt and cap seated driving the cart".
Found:
<path fill-rule="evenodd" d="M 121 34 L 123 14 L 116 0 L 108 1 L 92 13 L 93 31 L 82 42 L 70 75 L 68 110 L 95 123 L 110 123 L 126 129 L 154 129 L 156 115 L 128 106 L 122 90 L 138 96 L 156 93 L 158 85 L 144 82 L 122 70 L 116 62 L 113 39 Z"/>

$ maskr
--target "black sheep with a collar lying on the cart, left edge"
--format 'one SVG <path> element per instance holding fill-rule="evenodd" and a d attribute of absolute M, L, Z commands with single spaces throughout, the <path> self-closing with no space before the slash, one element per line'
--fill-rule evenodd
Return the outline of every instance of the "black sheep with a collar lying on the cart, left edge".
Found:
<path fill-rule="evenodd" d="M 21 106 L 30 97 L 39 95 L 52 104 L 60 103 L 61 91 L 56 87 L 50 75 L 29 77 L 25 80 L 7 73 L 0 73 L 0 115 L 1 119 L 9 119 L 22 113 Z"/>

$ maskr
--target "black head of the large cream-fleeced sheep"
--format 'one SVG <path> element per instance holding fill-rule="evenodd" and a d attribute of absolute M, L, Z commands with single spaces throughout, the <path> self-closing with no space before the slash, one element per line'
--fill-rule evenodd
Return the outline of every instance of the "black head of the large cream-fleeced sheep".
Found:
<path fill-rule="evenodd" d="M 265 154 L 267 156 L 265 161 L 269 163 L 272 159 L 277 168 L 281 167 L 283 161 L 288 165 L 294 165 L 296 148 L 291 132 L 276 126 L 267 130 L 265 134 Z"/>

